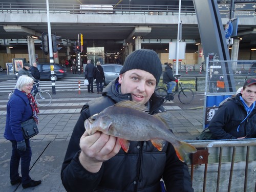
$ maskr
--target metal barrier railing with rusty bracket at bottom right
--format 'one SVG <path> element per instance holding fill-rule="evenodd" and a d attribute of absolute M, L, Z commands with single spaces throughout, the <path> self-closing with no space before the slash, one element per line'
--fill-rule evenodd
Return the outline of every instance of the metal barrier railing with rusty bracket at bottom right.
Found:
<path fill-rule="evenodd" d="M 195 191 L 255 191 L 256 139 L 187 141 Z"/>

